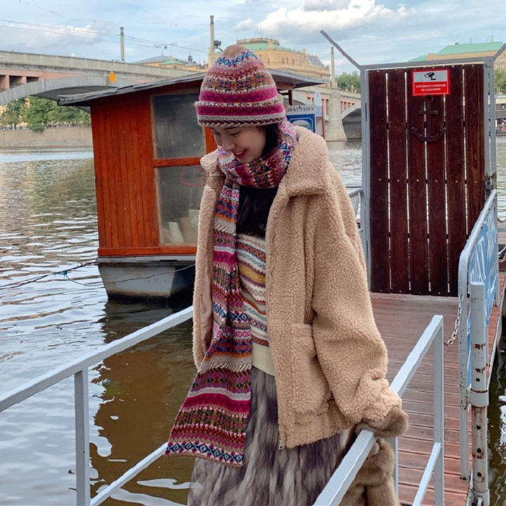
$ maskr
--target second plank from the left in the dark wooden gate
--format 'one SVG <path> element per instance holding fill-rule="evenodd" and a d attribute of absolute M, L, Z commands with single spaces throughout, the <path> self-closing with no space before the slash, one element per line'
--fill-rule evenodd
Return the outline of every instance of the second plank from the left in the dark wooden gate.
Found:
<path fill-rule="evenodd" d="M 390 165 L 391 291 L 409 293 L 407 243 L 407 153 L 405 70 L 388 70 L 388 158 Z M 374 151 L 372 151 L 374 153 Z"/>

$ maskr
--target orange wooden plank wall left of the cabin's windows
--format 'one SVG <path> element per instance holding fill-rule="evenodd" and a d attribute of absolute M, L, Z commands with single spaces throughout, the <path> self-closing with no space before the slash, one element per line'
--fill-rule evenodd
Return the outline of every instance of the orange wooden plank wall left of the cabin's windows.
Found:
<path fill-rule="evenodd" d="M 136 95 L 91 109 L 99 255 L 156 253 L 159 246 L 149 102 Z"/>

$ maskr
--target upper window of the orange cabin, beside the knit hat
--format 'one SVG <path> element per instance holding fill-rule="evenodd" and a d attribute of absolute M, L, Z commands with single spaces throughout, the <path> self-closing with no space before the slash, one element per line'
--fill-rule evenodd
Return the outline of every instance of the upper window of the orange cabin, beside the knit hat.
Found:
<path fill-rule="evenodd" d="M 200 158 L 205 155 L 202 127 L 194 103 L 198 94 L 153 96 L 155 158 Z"/>

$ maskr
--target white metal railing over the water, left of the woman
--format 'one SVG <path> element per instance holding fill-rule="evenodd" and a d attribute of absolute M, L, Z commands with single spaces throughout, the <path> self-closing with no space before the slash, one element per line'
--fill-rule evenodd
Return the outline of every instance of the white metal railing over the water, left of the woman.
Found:
<path fill-rule="evenodd" d="M 144 458 L 137 466 L 129 469 L 118 480 L 104 488 L 96 497 L 90 498 L 89 486 L 89 409 L 88 409 L 88 368 L 102 360 L 126 350 L 131 346 L 146 341 L 161 332 L 175 327 L 176 325 L 186 322 L 193 315 L 193 307 L 186 308 L 182 311 L 170 315 L 159 322 L 153 323 L 148 327 L 139 329 L 138 331 L 125 336 L 118 341 L 109 343 L 99 348 L 99 350 L 91 351 L 81 358 L 68 362 L 61 367 L 57 367 L 52 371 L 40 376 L 32 381 L 28 381 L 18 388 L 14 388 L 0 396 L 0 412 L 6 410 L 15 404 L 34 396 L 34 394 L 59 383 L 63 379 L 73 376 L 75 385 L 75 462 L 76 462 L 76 504 L 77 506 L 98 506 L 106 500 L 110 495 L 115 493 L 127 481 L 132 479 L 142 469 L 148 467 L 151 462 L 156 460 L 165 448 L 165 444 L 160 446 L 151 455 Z"/>

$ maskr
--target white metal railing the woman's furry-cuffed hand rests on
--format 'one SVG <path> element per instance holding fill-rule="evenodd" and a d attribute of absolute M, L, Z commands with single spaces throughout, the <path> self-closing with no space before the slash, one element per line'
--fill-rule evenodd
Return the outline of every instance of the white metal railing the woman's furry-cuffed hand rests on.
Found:
<path fill-rule="evenodd" d="M 399 396 L 403 396 L 407 385 L 417 372 L 427 351 L 434 344 L 434 443 L 427 462 L 422 481 L 415 496 L 413 506 L 422 504 L 424 495 L 429 487 L 431 476 L 434 473 L 434 504 L 444 504 L 444 378 L 443 378 L 443 317 L 434 316 L 426 327 L 415 348 L 393 379 L 391 388 Z M 339 505 L 360 467 L 364 463 L 369 450 L 376 441 L 371 431 L 362 431 L 353 443 L 343 461 L 331 476 L 322 493 L 318 496 L 314 506 Z M 396 438 L 397 441 L 397 438 Z M 397 444 L 394 445 L 397 454 Z M 396 471 L 394 474 L 396 488 L 398 489 L 398 459 L 396 458 Z"/>

